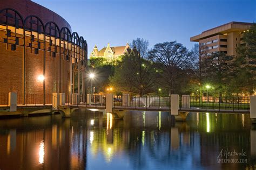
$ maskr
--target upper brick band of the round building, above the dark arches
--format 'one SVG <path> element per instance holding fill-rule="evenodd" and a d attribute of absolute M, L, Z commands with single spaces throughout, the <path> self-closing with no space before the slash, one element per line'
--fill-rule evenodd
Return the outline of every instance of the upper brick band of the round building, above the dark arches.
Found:
<path fill-rule="evenodd" d="M 44 24 L 50 21 L 55 22 L 60 29 L 62 27 L 68 27 L 71 31 L 71 26 L 64 18 L 60 17 L 57 15 L 57 13 L 45 8 L 44 6 L 30 0 L 1 0 L 0 9 L 2 10 L 4 8 L 12 8 L 17 10 L 19 13 L 21 13 L 23 19 L 25 19 L 27 16 L 35 15 L 41 18 Z"/>

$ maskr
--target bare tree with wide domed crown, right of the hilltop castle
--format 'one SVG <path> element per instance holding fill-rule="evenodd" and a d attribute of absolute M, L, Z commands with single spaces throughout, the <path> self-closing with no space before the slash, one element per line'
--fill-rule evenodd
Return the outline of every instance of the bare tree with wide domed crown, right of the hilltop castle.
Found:
<path fill-rule="evenodd" d="M 159 83 L 169 90 L 169 94 L 178 92 L 186 83 L 186 70 L 191 66 L 191 52 L 176 41 L 154 45 L 149 52 L 149 59 L 156 63 L 160 74 Z"/>

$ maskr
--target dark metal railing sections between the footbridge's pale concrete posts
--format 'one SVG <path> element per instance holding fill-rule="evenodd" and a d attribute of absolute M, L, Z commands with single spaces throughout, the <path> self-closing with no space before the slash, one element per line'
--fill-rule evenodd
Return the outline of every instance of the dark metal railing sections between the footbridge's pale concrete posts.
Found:
<path fill-rule="evenodd" d="M 86 105 L 86 107 L 106 107 L 105 95 L 65 95 L 65 105 Z M 124 101 L 123 101 L 124 100 Z M 182 101 L 189 103 L 184 107 Z M 122 95 L 113 96 L 113 107 L 131 107 L 131 108 L 154 108 L 154 109 L 170 109 L 170 96 L 130 96 Z M 17 94 L 17 104 L 23 104 L 23 94 Z M 25 105 L 42 105 L 44 104 L 43 94 L 25 94 Z M 45 104 L 52 104 L 52 94 L 45 95 Z M 8 106 L 8 94 L 0 94 L 0 105 Z M 247 110 L 250 111 L 250 97 L 240 96 L 183 96 L 179 97 L 179 108 L 182 110 Z"/>

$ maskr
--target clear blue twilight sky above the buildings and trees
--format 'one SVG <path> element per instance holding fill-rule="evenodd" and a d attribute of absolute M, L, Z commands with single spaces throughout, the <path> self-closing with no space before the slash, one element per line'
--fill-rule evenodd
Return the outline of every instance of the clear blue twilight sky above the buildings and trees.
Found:
<path fill-rule="evenodd" d="M 87 40 L 91 53 L 107 42 L 124 46 L 137 37 L 150 48 L 164 41 L 191 49 L 190 37 L 231 21 L 256 22 L 256 0 L 32 0 L 58 13 Z"/>

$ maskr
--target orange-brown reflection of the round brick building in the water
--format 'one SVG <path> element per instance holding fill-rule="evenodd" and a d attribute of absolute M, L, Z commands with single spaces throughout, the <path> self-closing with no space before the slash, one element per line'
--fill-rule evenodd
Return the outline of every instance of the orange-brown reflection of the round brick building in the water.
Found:
<path fill-rule="evenodd" d="M 1 169 L 21 169 L 21 165 L 24 169 L 70 167 L 69 127 L 65 124 L 52 126 L 54 119 L 50 116 L 41 117 L 39 120 L 40 122 L 38 118 L 32 117 L 8 120 L 6 124 L 1 123 L 5 126 L 5 131 L 9 131 L 8 134 L 0 133 L 1 144 L 3 144 L 2 141 L 6 141 L 6 145 L 0 145 Z M 70 122 L 69 119 L 65 121 Z M 8 130 L 9 124 L 14 125 L 14 123 L 16 127 L 24 123 L 29 128 Z M 62 163 L 56 164 L 56 162 Z"/>

